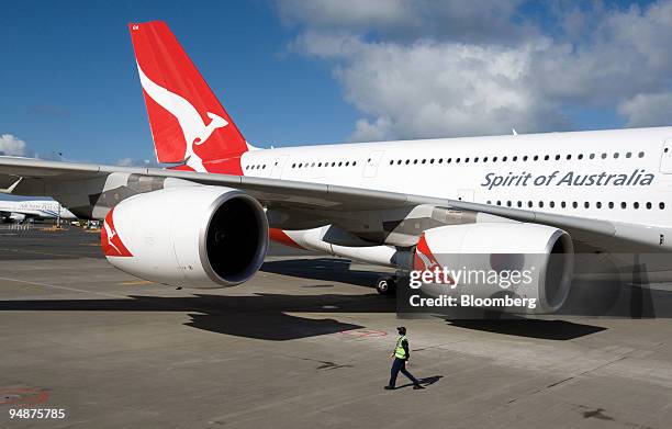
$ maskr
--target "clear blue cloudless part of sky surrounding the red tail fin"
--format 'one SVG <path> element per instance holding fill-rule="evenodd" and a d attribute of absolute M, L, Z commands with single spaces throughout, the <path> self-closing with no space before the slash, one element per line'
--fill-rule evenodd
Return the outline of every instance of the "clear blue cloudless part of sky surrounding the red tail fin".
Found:
<path fill-rule="evenodd" d="M 275 4 L 22 1 L 0 13 L 0 134 L 41 156 L 153 158 L 126 24 L 166 21 L 246 138 L 338 142 L 356 117 L 327 64 L 291 55 Z"/>

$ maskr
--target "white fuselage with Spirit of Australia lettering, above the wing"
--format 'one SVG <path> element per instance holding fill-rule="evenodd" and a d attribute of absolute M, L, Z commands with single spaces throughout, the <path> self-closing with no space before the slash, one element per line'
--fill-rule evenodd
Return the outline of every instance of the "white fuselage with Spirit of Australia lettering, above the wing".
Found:
<path fill-rule="evenodd" d="M 672 227 L 672 127 L 248 151 L 245 176 Z"/>

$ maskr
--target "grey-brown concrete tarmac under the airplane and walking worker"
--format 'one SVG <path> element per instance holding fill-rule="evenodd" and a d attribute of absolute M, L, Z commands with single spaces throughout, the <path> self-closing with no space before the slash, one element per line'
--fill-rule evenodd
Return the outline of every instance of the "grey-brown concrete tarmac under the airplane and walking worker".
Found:
<path fill-rule="evenodd" d="M 400 320 L 374 267 L 273 248 L 243 285 L 176 290 L 114 269 L 98 241 L 0 229 L 0 427 L 671 426 L 664 312 Z M 382 388 L 400 325 L 425 390 L 401 374 Z"/>

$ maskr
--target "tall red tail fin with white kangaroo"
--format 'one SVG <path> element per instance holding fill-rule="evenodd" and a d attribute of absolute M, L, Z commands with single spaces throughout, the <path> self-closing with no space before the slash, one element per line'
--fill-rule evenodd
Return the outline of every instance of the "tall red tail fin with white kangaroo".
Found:
<path fill-rule="evenodd" d="M 242 174 L 237 158 L 247 151 L 245 138 L 168 25 L 128 26 L 157 160 L 186 161 L 197 171 L 221 161 L 219 172 Z"/>

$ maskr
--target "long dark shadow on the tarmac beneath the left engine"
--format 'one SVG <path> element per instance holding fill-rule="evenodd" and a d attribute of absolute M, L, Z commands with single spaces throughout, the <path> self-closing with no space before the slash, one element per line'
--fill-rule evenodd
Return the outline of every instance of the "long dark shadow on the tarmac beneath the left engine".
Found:
<path fill-rule="evenodd" d="M 326 308 L 325 308 L 326 307 Z M 237 337 L 284 341 L 359 329 L 333 318 L 288 313 L 393 313 L 394 302 L 370 295 L 139 296 L 110 300 L 0 301 L 0 312 L 184 312 L 186 325 Z"/>

